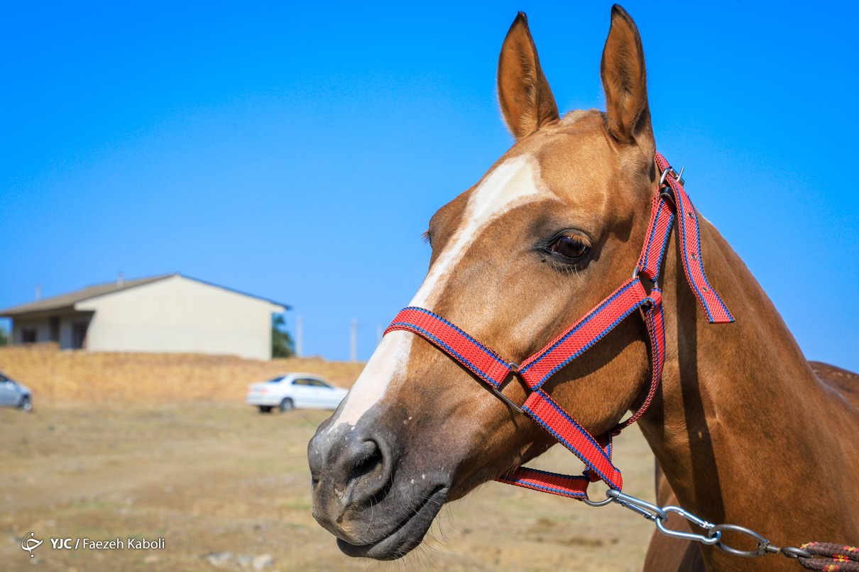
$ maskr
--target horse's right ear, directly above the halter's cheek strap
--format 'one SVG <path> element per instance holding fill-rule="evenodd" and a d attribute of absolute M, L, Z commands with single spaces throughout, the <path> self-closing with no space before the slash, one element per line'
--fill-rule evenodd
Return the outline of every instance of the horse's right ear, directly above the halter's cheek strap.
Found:
<path fill-rule="evenodd" d="M 623 143 L 636 143 L 649 159 L 656 144 L 647 101 L 647 71 L 642 39 L 626 10 L 612 6 L 612 27 L 600 64 L 606 90 L 608 130 Z"/>

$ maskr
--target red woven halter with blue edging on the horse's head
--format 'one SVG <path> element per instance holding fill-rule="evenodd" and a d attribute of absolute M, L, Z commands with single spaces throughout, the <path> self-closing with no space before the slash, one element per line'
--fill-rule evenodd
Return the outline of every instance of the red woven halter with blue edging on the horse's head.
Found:
<path fill-rule="evenodd" d="M 662 295 L 657 280 L 675 212 L 678 215 L 680 244 L 683 246 L 683 269 L 692 292 L 704 308 L 710 324 L 734 321 L 734 316 L 728 312 L 728 307 L 712 289 L 704 274 L 701 241 L 698 237 L 698 214 L 683 190 L 683 180 L 662 155 L 656 153 L 655 160 L 661 173 L 660 191 L 653 198 L 647 238 L 644 240 L 633 277 L 570 326 L 566 332 L 527 358 L 521 366 L 505 362 L 497 353 L 448 320 L 420 307 L 406 307 L 401 310 L 385 331 L 387 334 L 394 330 L 406 330 L 425 338 L 484 380 L 498 397 L 516 411 L 526 413 L 588 467 L 582 476 L 568 476 L 521 466 L 497 479 L 502 483 L 579 500 L 588 498 L 588 484 L 597 480 L 605 481 L 615 490 L 621 490 L 623 487 L 623 478 L 612 465 L 612 437 L 642 416 L 661 379 L 665 359 L 665 324 L 662 319 Z M 642 275 L 653 283 L 649 293 L 642 284 Z M 594 437 L 551 399 L 543 385 L 552 374 L 588 350 L 636 308 L 643 310 L 650 338 L 650 388 L 643 405 L 632 417 L 619 423 L 606 435 Z M 531 391 L 521 408 L 501 392 L 503 383 L 510 374 L 518 375 Z"/>

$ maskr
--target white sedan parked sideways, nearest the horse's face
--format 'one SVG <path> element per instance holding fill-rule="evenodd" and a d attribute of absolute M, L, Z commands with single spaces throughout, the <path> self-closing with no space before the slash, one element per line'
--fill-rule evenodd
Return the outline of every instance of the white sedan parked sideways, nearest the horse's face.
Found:
<path fill-rule="evenodd" d="M 259 407 L 261 413 L 272 409 L 337 409 L 349 390 L 338 387 L 314 374 L 278 375 L 273 380 L 247 386 L 247 405 Z"/>

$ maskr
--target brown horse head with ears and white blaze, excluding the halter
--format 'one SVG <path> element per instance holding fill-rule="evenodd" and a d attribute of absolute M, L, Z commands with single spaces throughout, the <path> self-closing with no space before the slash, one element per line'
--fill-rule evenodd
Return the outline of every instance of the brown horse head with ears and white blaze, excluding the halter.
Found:
<path fill-rule="evenodd" d="M 430 269 L 410 306 L 521 362 L 624 283 L 658 185 L 644 55 L 618 6 L 602 54 L 606 112 L 560 117 L 519 14 L 498 61 L 515 143 L 430 220 Z M 626 319 L 545 389 L 591 435 L 646 391 L 647 331 Z M 509 382 L 505 396 L 527 392 Z M 393 559 L 420 544 L 444 502 L 556 441 L 411 332 L 389 332 L 308 446 L 313 514 L 350 556 Z"/>

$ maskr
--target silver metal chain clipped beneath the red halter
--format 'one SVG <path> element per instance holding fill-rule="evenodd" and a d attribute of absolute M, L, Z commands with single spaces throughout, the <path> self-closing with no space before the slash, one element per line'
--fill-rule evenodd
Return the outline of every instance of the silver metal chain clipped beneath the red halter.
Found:
<path fill-rule="evenodd" d="M 813 554 L 804 551 L 801 548 L 771 545 L 769 540 L 758 534 L 758 532 L 754 532 L 745 526 L 729 524 L 716 525 L 712 522 L 698 518 L 698 516 L 691 514 L 684 508 L 674 506 L 660 508 L 655 504 L 643 501 L 635 496 L 624 495 L 624 493 L 619 490 L 612 489 L 606 490 L 606 497 L 605 501 L 594 502 L 587 498 L 582 500 L 592 507 L 604 507 L 606 504 L 615 502 L 624 508 L 629 508 L 634 513 L 641 514 L 645 519 L 654 522 L 659 532 L 666 536 L 673 537 L 674 539 L 693 540 L 704 545 L 716 546 L 719 550 L 728 552 L 728 554 L 733 554 L 734 556 L 752 558 L 766 556 L 767 554 L 781 554 L 783 557 L 793 559 L 813 558 Z M 707 531 L 707 536 L 696 534 L 695 532 L 683 532 L 668 528 L 668 513 L 677 513 L 685 518 L 685 520 L 689 520 L 690 522 L 701 526 L 705 531 Z M 741 551 L 740 549 L 732 548 L 721 541 L 723 531 L 740 532 L 740 534 L 745 534 L 746 536 L 754 539 L 754 541 L 758 543 L 758 546 L 753 551 Z"/>

